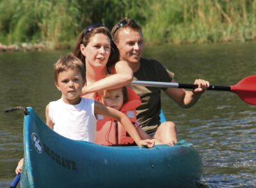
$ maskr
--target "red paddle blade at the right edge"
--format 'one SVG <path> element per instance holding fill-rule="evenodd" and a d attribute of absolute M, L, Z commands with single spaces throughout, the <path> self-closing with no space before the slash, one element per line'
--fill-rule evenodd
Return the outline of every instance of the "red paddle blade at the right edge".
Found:
<path fill-rule="evenodd" d="M 236 93 L 244 102 L 256 105 L 256 75 L 245 77 L 230 88 L 230 91 Z"/>

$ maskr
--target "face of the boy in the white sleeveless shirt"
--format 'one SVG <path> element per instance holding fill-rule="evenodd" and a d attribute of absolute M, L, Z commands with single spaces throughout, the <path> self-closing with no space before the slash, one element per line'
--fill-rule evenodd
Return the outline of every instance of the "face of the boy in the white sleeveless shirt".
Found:
<path fill-rule="evenodd" d="M 61 91 L 63 100 L 67 104 L 78 104 L 80 102 L 79 95 L 84 86 L 83 77 L 80 72 L 71 69 L 60 72 L 55 86 Z"/>

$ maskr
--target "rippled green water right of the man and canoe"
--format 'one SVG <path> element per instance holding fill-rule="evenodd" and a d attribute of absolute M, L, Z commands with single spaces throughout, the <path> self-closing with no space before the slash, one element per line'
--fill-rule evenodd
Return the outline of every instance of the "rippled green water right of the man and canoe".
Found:
<path fill-rule="evenodd" d="M 163 62 L 182 83 L 202 78 L 229 86 L 256 75 L 256 43 L 162 45 L 150 50 L 145 56 Z M 203 184 L 256 187 L 255 106 L 227 91 L 206 91 L 190 109 L 181 109 L 165 95 L 162 100 L 179 136 L 193 143 L 203 157 Z"/>

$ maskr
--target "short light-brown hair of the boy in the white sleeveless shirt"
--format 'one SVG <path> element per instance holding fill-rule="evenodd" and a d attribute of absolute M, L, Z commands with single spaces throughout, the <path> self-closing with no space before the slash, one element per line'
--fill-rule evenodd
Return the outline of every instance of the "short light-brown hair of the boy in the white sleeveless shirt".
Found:
<path fill-rule="evenodd" d="M 80 59 L 76 58 L 74 54 L 69 53 L 67 56 L 62 56 L 58 61 L 54 64 L 53 72 L 54 79 L 58 81 L 58 75 L 67 70 L 75 70 L 76 72 L 81 73 L 83 79 L 85 77 L 84 64 L 80 61 Z"/>

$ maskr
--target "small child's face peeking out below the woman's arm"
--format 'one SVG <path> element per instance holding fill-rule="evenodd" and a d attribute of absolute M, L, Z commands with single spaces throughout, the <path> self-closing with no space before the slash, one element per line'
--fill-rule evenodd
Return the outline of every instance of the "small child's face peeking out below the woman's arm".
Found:
<path fill-rule="evenodd" d="M 119 110 L 123 106 L 124 95 L 122 88 L 104 92 L 103 103 L 108 107 Z"/>

